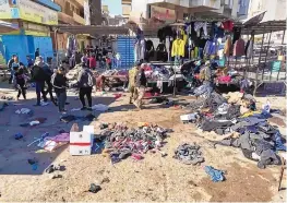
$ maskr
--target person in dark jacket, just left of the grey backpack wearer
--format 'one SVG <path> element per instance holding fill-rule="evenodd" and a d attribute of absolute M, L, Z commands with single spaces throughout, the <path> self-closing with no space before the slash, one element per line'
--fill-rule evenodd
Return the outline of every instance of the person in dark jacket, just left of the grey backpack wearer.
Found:
<path fill-rule="evenodd" d="M 64 68 L 60 67 L 51 76 L 51 84 L 58 98 L 58 107 L 60 114 L 65 114 L 64 109 L 67 100 L 67 77 Z"/>

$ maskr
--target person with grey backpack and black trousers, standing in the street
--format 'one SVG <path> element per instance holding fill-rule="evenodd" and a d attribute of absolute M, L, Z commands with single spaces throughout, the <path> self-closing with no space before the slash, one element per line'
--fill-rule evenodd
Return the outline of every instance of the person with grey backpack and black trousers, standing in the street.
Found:
<path fill-rule="evenodd" d="M 80 100 L 82 103 L 82 110 L 92 110 L 92 91 L 94 86 L 94 76 L 92 71 L 82 64 L 82 70 L 77 76 L 77 85 L 80 87 Z M 86 107 L 85 97 L 87 98 L 88 108 Z"/>

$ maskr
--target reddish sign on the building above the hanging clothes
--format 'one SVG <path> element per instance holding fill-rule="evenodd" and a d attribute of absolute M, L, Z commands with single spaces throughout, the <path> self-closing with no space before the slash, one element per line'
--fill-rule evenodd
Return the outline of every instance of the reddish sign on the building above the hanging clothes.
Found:
<path fill-rule="evenodd" d="M 160 7 L 151 5 L 151 17 L 163 21 L 176 21 L 176 11 Z"/>

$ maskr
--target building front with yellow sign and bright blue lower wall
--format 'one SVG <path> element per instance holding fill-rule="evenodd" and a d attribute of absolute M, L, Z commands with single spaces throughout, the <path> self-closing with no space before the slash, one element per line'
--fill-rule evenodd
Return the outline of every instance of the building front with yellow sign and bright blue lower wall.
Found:
<path fill-rule="evenodd" d="M 45 59 L 52 57 L 50 27 L 58 25 L 59 11 L 61 8 L 48 0 L 1 0 L 0 20 L 20 27 L 19 31 L 0 34 L 5 60 L 17 55 L 20 61 L 26 63 L 26 56 L 34 58 L 37 48 Z"/>

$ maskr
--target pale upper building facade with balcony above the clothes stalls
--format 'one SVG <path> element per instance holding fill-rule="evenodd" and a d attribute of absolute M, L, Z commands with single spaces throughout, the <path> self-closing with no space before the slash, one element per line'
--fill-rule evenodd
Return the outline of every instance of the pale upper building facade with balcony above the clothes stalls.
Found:
<path fill-rule="evenodd" d="M 183 20 L 186 16 L 202 19 L 237 19 L 248 14 L 249 0 L 122 0 L 123 16 L 145 19 Z"/>

